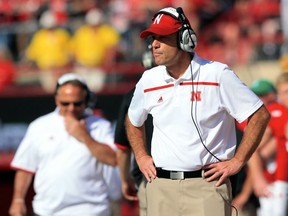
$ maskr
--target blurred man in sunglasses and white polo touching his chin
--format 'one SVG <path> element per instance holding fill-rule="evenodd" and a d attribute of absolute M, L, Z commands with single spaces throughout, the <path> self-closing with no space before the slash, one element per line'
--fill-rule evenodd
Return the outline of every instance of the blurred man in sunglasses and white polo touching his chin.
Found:
<path fill-rule="evenodd" d="M 34 120 L 15 157 L 9 214 L 26 215 L 25 196 L 34 179 L 33 211 L 41 216 L 110 216 L 109 199 L 121 196 L 110 123 L 86 112 L 85 80 L 58 80 L 55 111 Z"/>

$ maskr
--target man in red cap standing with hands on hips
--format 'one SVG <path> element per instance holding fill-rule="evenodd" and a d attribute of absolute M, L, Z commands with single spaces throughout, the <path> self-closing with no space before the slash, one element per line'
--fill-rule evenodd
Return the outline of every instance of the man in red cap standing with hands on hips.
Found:
<path fill-rule="evenodd" d="M 225 64 L 199 57 L 182 8 L 164 8 L 140 36 L 152 36 L 156 66 L 136 85 L 126 121 L 147 181 L 148 216 L 231 215 L 229 176 L 257 148 L 270 115 Z M 153 116 L 152 157 L 144 122 Z M 249 118 L 235 153 L 235 119 Z"/>

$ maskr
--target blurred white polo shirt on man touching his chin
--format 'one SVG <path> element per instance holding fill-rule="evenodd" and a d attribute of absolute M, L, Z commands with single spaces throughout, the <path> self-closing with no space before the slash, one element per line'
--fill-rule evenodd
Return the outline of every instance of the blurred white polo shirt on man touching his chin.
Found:
<path fill-rule="evenodd" d="M 110 122 L 96 116 L 85 122 L 92 137 L 116 150 Z M 29 125 L 11 166 L 35 173 L 33 209 L 42 216 L 108 216 L 109 189 L 112 198 L 121 195 L 115 168 L 98 162 L 67 133 L 58 110 Z"/>

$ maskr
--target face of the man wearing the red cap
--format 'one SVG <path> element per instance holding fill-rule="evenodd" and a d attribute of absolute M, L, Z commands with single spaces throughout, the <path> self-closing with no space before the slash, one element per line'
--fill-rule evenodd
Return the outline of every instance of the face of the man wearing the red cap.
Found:
<path fill-rule="evenodd" d="M 152 40 L 153 57 L 157 65 L 169 67 L 178 61 L 177 33 L 168 36 L 153 35 Z"/>

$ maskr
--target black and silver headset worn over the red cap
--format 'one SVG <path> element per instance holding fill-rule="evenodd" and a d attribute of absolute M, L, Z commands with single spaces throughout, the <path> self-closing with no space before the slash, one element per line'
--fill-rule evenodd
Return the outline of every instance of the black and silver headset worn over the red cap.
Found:
<path fill-rule="evenodd" d="M 191 28 L 183 9 L 181 7 L 178 7 L 177 9 L 173 7 L 163 8 L 153 16 L 152 21 L 154 21 L 158 14 L 167 14 L 181 22 L 182 26 L 177 35 L 177 46 L 179 49 L 185 52 L 193 52 L 197 46 L 197 36 L 194 30 Z"/>

